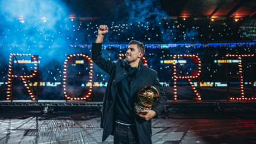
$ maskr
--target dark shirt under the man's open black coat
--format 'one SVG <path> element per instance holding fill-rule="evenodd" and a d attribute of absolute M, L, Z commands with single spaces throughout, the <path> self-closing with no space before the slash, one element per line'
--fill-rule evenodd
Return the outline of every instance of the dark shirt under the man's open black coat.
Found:
<path fill-rule="evenodd" d="M 137 68 L 129 67 L 126 69 L 127 75 L 118 82 L 115 104 L 113 108 L 114 120 L 122 123 L 135 124 L 134 102 L 131 101 L 130 85 L 135 83 Z"/>

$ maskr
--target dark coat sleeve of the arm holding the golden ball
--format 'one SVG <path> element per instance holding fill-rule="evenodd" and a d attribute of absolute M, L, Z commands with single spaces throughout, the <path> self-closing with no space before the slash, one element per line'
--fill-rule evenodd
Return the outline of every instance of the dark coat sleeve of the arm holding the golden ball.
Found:
<path fill-rule="evenodd" d="M 154 118 L 158 118 L 158 116 L 160 115 L 160 113 L 164 110 L 165 108 L 165 104 L 167 102 L 167 97 L 164 93 L 164 89 L 162 87 L 162 85 L 159 83 L 159 79 L 157 74 L 155 75 L 155 80 L 154 80 L 154 85 L 155 88 L 157 88 L 158 92 L 159 92 L 159 100 L 158 102 L 153 105 L 152 110 L 154 110 L 157 113 L 157 116 L 155 116 Z"/>

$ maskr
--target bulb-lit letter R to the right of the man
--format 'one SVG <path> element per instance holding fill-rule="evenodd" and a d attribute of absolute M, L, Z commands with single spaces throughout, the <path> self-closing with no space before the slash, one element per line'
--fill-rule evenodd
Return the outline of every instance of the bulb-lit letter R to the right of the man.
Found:
<path fill-rule="evenodd" d="M 188 76 L 186 73 L 185 75 L 186 76 L 176 76 L 176 63 L 173 63 L 173 75 L 174 75 L 174 100 L 177 100 L 177 79 L 187 79 L 189 81 L 189 84 L 191 84 L 191 87 L 192 89 L 194 90 L 194 92 L 196 93 L 197 95 L 197 98 L 198 100 L 201 100 L 201 96 L 199 93 L 197 93 L 197 90 L 196 88 L 194 87 L 193 83 L 191 82 L 191 79 L 192 78 L 198 78 L 198 76 L 200 76 L 200 73 L 201 73 L 201 61 L 200 61 L 200 58 L 197 56 L 197 55 L 174 55 L 173 56 L 173 59 L 177 59 L 177 57 L 192 57 L 193 58 L 196 58 L 198 60 L 198 71 L 197 71 L 197 74 L 194 76 Z M 178 61 L 178 60 L 177 60 Z"/>

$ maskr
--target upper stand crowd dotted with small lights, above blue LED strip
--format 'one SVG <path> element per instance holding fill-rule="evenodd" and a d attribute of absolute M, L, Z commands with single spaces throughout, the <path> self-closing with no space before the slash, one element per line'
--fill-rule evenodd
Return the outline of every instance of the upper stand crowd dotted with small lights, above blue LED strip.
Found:
<path fill-rule="evenodd" d="M 67 24 L 68 23 L 68 24 Z M 88 21 L 76 21 L 66 24 L 59 24 L 56 26 L 56 32 L 48 30 L 47 22 L 45 26 L 31 26 L 31 29 L 26 30 L 23 25 L 26 25 L 26 21 L 21 21 L 20 28 L 15 30 L 10 29 L 8 31 L 0 32 L 3 39 L 10 39 L 13 35 L 17 36 L 18 41 L 30 41 L 30 38 L 36 39 L 37 42 L 55 42 L 59 38 L 64 39 L 69 44 L 70 42 L 89 42 L 97 36 L 97 30 L 99 25 L 94 22 Z M 101 23 L 101 22 L 98 22 Z M 57 25 L 57 24 L 56 24 Z M 221 27 L 215 26 L 191 26 L 186 23 L 170 23 L 170 22 L 158 22 L 157 24 L 150 22 L 137 22 L 137 23 L 108 23 L 110 28 L 108 35 L 111 35 L 109 41 L 130 41 L 140 40 L 145 42 L 150 41 L 164 41 L 166 35 L 173 37 L 172 41 L 218 41 L 218 40 L 244 40 L 246 36 L 243 30 L 237 30 L 227 25 Z M 164 27 L 159 31 L 157 27 Z M 188 29 L 195 30 L 189 31 Z M 131 30 L 143 31 L 143 33 L 136 33 L 138 36 L 124 35 Z M 34 32 L 31 32 L 34 31 Z M 37 37 L 35 37 L 35 33 Z M 81 36 L 82 35 L 82 36 Z M 0 35 L 1 36 L 1 35 Z M 256 35 L 255 35 L 256 36 Z M 85 41 L 88 39 L 88 41 Z M 10 40 L 11 41 L 11 40 Z"/>

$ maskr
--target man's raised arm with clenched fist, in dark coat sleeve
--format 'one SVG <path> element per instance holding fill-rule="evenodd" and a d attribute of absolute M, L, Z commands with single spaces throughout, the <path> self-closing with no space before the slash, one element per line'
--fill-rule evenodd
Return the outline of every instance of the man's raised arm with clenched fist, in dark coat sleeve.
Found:
<path fill-rule="evenodd" d="M 104 35 L 107 32 L 108 27 L 106 25 L 99 26 L 97 40 L 96 42 L 92 42 L 92 60 L 99 66 L 99 68 L 106 71 L 106 73 L 110 75 L 113 66 L 115 66 L 115 63 L 102 57 L 102 42 Z"/>

